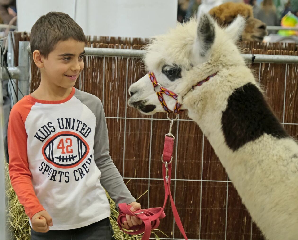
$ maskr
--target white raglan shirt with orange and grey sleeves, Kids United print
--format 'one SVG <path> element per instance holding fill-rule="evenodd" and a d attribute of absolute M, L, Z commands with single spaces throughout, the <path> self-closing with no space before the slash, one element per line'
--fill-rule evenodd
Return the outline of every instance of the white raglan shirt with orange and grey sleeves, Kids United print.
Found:
<path fill-rule="evenodd" d="M 104 188 L 116 204 L 136 201 L 109 156 L 103 105 L 89 93 L 72 88 L 62 101 L 23 97 L 10 113 L 8 150 L 11 184 L 25 213 L 31 220 L 46 210 L 50 230 L 110 216 Z"/>

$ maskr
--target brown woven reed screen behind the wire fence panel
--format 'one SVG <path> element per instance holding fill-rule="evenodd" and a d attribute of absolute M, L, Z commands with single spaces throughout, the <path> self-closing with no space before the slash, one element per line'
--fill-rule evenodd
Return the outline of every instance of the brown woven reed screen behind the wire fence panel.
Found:
<path fill-rule="evenodd" d="M 116 44 L 117 41 L 120 44 Z M 94 47 L 140 49 L 144 43 L 140 39 L 101 37 L 94 41 Z M 296 44 L 243 43 L 242 48 L 245 53 L 298 55 Z M 298 65 L 254 63 L 250 67 L 265 90 L 273 111 L 297 139 Z M 148 208 L 163 204 L 160 158 L 169 122 L 162 113 L 151 118 L 127 106 L 128 87 L 146 74 L 143 70 L 138 58 L 86 56 L 85 68 L 75 87 L 102 100 L 112 159 L 134 196 L 149 189 L 138 200 L 143 208 Z M 38 73 L 33 67 L 31 91 L 37 86 Z M 188 238 L 263 239 L 197 124 L 183 113 L 175 122 L 173 133 L 176 139 L 172 193 Z M 168 237 L 162 233 L 159 236 L 181 239 L 182 235 L 173 223 L 170 205 L 165 213 L 166 218 L 159 229 Z"/>

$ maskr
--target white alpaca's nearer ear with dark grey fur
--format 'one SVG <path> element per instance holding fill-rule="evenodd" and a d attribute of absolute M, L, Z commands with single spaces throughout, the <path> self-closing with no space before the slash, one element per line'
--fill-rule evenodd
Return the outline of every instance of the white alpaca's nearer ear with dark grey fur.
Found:
<path fill-rule="evenodd" d="M 206 56 L 215 39 L 215 22 L 209 14 L 202 14 L 198 21 L 194 52 Z"/>

